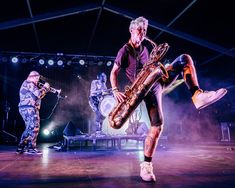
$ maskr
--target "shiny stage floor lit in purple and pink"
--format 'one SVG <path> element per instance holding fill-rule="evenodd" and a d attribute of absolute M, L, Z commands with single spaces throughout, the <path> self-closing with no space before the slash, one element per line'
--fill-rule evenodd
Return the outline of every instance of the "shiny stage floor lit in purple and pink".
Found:
<path fill-rule="evenodd" d="M 167 144 L 153 158 L 156 183 L 139 177 L 142 149 L 58 152 L 40 144 L 42 156 L 15 154 L 0 145 L 0 187 L 235 187 L 235 144 Z"/>

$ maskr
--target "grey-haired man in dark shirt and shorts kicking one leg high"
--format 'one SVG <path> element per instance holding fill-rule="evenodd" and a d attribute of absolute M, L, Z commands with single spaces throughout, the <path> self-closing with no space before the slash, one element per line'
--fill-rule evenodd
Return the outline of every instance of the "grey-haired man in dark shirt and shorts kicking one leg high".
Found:
<path fill-rule="evenodd" d="M 142 45 L 146 37 L 148 28 L 148 20 L 144 17 L 138 17 L 132 20 L 129 26 L 130 39 L 121 47 L 115 59 L 111 74 L 110 82 L 114 97 L 120 103 L 125 101 L 124 93 L 118 88 L 118 75 L 120 70 L 124 70 L 127 78 L 133 82 L 138 72 L 149 59 L 149 52 Z M 178 56 L 167 68 L 169 78 L 167 80 L 160 79 L 154 83 L 151 90 L 144 97 L 148 116 L 150 118 L 150 130 L 145 140 L 144 161 L 140 164 L 140 176 L 144 181 L 156 181 L 153 173 L 152 157 L 155 152 L 159 136 L 162 132 L 164 124 L 164 116 L 162 110 L 162 96 L 164 90 L 170 86 L 179 75 L 183 75 L 185 84 L 192 94 L 193 104 L 197 109 L 202 109 L 220 98 L 222 98 L 227 90 L 219 89 L 217 91 L 204 92 L 198 83 L 196 70 L 190 55 L 182 54 Z"/>

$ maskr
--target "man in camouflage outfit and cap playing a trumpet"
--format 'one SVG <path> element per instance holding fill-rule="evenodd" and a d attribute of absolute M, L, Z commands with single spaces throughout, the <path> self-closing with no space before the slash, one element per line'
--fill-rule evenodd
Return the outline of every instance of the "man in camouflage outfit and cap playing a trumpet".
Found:
<path fill-rule="evenodd" d="M 25 130 L 16 150 L 19 154 L 42 154 L 36 149 L 36 141 L 40 128 L 39 109 L 41 99 L 49 92 L 50 85 L 45 83 L 42 87 L 39 87 L 39 78 L 40 74 L 38 72 L 31 71 L 20 87 L 20 102 L 18 106 L 20 115 L 25 122 Z"/>

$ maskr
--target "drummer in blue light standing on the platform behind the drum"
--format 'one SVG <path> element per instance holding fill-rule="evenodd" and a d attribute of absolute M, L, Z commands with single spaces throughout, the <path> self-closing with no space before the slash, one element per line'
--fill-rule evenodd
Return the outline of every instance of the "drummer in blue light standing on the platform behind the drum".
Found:
<path fill-rule="evenodd" d="M 91 82 L 90 87 L 90 96 L 89 96 L 89 104 L 91 109 L 95 112 L 95 136 L 105 136 L 102 132 L 102 125 L 105 117 L 101 114 L 99 110 L 99 104 L 103 98 L 103 94 L 107 94 L 107 76 L 104 72 L 97 75 L 97 79 Z"/>

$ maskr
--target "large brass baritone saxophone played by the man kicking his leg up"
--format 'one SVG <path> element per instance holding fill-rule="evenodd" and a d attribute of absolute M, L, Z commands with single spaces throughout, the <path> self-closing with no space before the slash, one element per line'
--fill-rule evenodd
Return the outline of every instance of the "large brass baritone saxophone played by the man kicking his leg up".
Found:
<path fill-rule="evenodd" d="M 156 45 L 147 37 L 145 40 L 151 43 L 153 49 L 135 81 L 131 86 L 126 87 L 124 101 L 118 103 L 109 113 L 109 124 L 114 129 L 120 129 L 124 125 L 156 81 L 168 78 L 168 73 L 160 60 L 168 51 L 169 45 L 167 43 Z"/>

